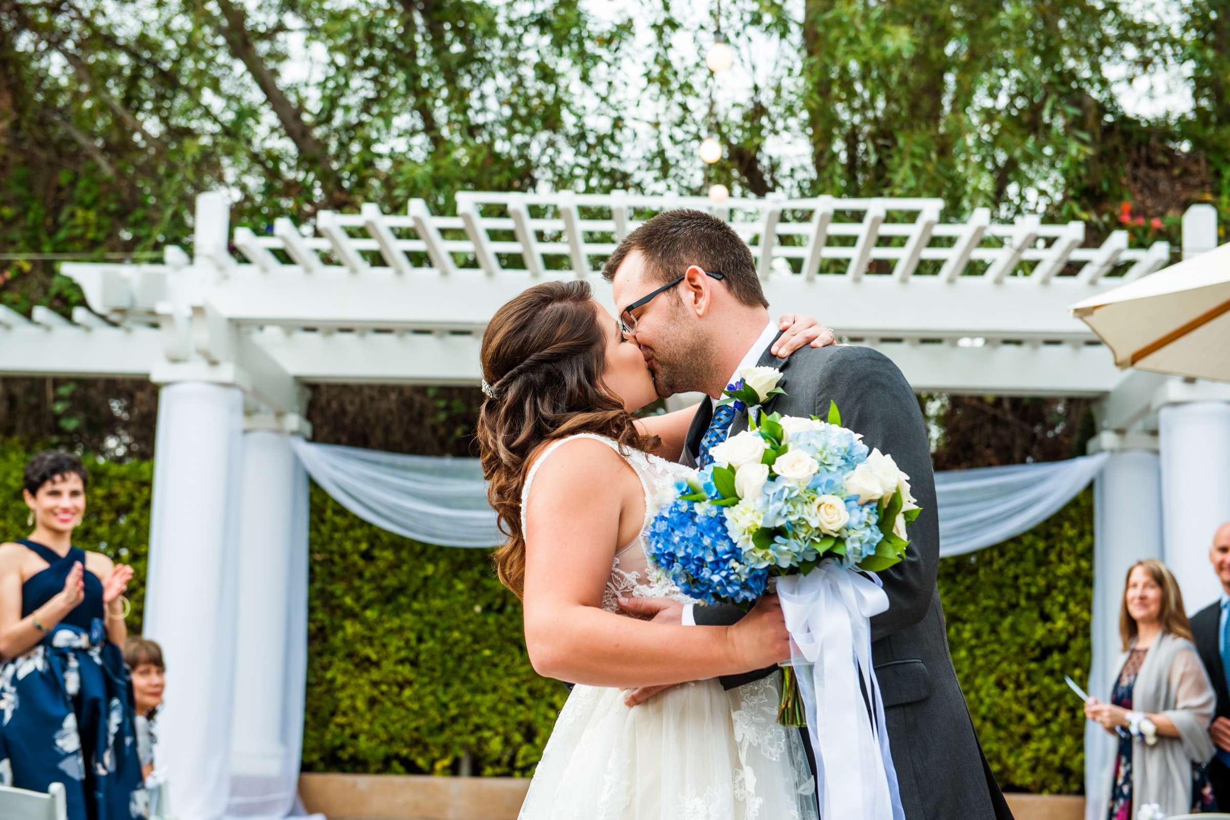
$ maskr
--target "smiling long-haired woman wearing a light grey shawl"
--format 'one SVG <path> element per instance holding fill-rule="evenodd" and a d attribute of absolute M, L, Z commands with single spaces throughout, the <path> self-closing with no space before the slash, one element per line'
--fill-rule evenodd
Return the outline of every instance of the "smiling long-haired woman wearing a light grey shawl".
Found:
<path fill-rule="evenodd" d="M 1213 809 L 1203 766 L 1214 754 L 1208 729 L 1215 697 L 1178 583 L 1160 561 L 1128 570 L 1119 634 L 1125 654 L 1111 702 L 1091 697 L 1085 704 L 1090 720 L 1119 738 L 1103 816 L 1133 820 L 1150 803 L 1165 814 Z"/>

